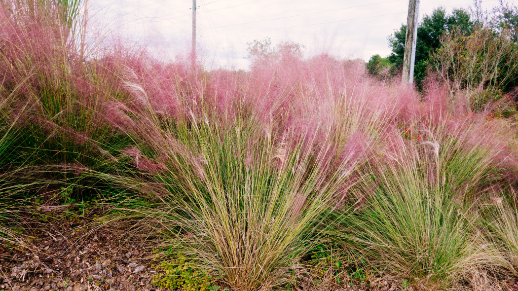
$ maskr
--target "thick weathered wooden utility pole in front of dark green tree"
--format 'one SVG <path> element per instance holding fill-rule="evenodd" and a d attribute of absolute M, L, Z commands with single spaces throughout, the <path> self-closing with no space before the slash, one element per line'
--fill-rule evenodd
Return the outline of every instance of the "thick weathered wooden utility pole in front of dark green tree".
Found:
<path fill-rule="evenodd" d="M 419 0 L 409 0 L 405 55 L 403 56 L 403 76 L 401 78 L 404 84 L 412 84 L 414 82 L 415 45 L 418 38 L 418 14 Z"/>

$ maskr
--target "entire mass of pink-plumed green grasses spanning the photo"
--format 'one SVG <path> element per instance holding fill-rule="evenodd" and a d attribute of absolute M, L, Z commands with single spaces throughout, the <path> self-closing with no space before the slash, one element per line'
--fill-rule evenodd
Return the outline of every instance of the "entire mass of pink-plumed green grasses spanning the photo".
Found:
<path fill-rule="evenodd" d="M 88 47 L 80 4 L 2 2 L 3 245 L 34 248 L 24 213 L 99 199 L 99 223 L 131 222 L 169 288 L 518 279 L 511 98 L 475 108 L 464 81 L 418 93 L 291 42 L 252 43 L 244 72 Z"/>

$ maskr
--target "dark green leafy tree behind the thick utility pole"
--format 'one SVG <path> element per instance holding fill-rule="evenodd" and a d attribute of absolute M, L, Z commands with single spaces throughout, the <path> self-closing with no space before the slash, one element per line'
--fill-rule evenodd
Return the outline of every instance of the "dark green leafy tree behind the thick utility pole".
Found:
<path fill-rule="evenodd" d="M 441 47 L 441 37 L 445 33 L 453 31 L 455 27 L 458 27 L 467 35 L 473 31 L 474 23 L 466 10 L 454 9 L 451 14 L 447 15 L 444 8 L 440 7 L 435 9 L 430 16 L 425 15 L 423 21 L 419 24 L 414 67 L 414 79 L 418 88 L 421 88 L 421 82 L 426 77 L 430 53 Z M 388 59 L 397 68 L 403 64 L 406 33 L 407 26 L 402 24 L 399 30 L 389 36 L 389 46 L 392 53 Z"/>

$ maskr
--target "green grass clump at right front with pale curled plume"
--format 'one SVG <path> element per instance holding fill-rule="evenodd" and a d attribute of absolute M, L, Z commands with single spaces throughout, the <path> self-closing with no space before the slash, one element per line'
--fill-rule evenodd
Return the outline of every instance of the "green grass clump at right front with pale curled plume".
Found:
<path fill-rule="evenodd" d="M 463 288 L 481 266 L 499 264 L 477 213 L 491 188 L 508 183 L 498 155 L 512 156 L 483 117 L 466 115 L 416 117 L 387 134 L 364 169 L 368 179 L 351 190 L 365 202 L 352 214 L 350 205 L 335 211 L 340 227 L 329 237 L 382 278 L 422 290 Z"/>

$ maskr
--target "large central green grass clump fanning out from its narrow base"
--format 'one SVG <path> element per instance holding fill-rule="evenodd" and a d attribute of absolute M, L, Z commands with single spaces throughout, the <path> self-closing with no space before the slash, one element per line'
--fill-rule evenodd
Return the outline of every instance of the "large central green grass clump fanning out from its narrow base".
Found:
<path fill-rule="evenodd" d="M 307 132 L 278 136 L 259 121 L 238 116 L 231 127 L 213 118 L 161 132 L 160 146 L 147 151 L 160 170 L 139 185 L 154 187 L 156 205 L 139 211 L 145 224 L 159 222 L 169 238 L 162 244 L 195 257 L 225 285 L 278 285 L 317 243 L 311 234 L 323 210 L 348 187 L 340 169 L 354 161 L 329 172 L 336 146 L 315 149 Z"/>

